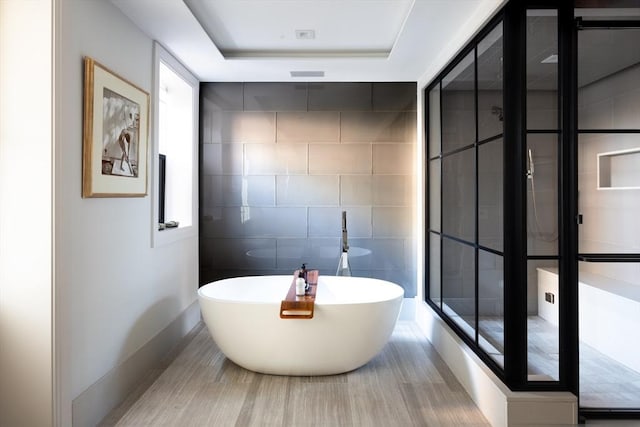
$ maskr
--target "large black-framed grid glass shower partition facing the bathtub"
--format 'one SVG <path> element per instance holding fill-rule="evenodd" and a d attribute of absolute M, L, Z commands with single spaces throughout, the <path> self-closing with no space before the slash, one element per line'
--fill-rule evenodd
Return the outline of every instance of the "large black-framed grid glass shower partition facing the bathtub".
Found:
<path fill-rule="evenodd" d="M 504 368 L 503 25 L 428 89 L 428 300 Z"/>

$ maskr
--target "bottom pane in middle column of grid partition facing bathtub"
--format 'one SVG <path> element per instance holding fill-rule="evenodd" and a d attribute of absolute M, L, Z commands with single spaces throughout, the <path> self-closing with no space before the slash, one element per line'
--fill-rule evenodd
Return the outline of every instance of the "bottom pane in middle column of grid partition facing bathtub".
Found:
<path fill-rule="evenodd" d="M 443 238 L 442 309 L 467 335 L 475 338 L 475 250 Z"/>

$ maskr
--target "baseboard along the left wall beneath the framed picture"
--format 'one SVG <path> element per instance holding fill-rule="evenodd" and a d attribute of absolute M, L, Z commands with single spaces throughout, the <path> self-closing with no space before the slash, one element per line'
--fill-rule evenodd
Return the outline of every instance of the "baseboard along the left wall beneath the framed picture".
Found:
<path fill-rule="evenodd" d="M 152 369 L 161 365 L 169 351 L 199 321 L 200 306 L 196 300 L 147 344 L 73 399 L 73 426 L 96 426 L 126 399 Z"/>

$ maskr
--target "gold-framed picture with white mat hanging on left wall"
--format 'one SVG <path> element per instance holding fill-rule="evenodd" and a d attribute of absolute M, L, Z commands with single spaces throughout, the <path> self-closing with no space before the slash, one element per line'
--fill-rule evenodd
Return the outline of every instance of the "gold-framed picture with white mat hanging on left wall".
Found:
<path fill-rule="evenodd" d="M 145 197 L 149 93 L 84 58 L 82 197 Z"/>

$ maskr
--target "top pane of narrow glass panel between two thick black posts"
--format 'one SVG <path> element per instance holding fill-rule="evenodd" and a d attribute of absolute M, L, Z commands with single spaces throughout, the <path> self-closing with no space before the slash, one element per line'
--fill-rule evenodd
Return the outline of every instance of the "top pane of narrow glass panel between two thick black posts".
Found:
<path fill-rule="evenodd" d="M 527 129 L 558 128 L 558 17 L 527 11 Z"/>

